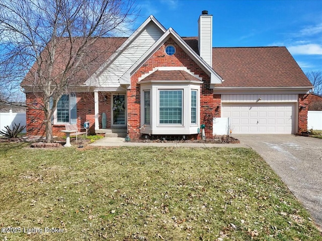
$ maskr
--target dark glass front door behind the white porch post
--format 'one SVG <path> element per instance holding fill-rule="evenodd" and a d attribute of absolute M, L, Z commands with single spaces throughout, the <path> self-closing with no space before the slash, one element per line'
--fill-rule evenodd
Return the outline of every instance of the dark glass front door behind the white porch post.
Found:
<path fill-rule="evenodd" d="M 126 111 L 125 94 L 112 95 L 112 124 L 113 126 L 125 126 Z"/>

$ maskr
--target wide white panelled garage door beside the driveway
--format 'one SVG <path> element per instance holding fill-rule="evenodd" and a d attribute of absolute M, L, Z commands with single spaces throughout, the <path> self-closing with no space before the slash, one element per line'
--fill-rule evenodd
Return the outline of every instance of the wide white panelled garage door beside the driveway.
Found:
<path fill-rule="evenodd" d="M 234 134 L 294 134 L 295 103 L 222 103 Z"/>

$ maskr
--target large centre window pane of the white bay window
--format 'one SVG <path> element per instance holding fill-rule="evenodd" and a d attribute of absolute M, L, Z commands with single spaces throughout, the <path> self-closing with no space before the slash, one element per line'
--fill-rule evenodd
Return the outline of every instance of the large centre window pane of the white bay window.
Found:
<path fill-rule="evenodd" d="M 182 90 L 159 90 L 159 124 L 182 125 Z"/>

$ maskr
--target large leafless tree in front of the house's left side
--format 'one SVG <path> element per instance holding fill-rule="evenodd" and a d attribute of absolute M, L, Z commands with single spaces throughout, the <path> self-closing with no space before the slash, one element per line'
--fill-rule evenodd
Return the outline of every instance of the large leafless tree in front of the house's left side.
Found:
<path fill-rule="evenodd" d="M 133 1 L 0 0 L 1 85 L 9 87 L 6 95 L 19 89 L 23 79 L 25 91 L 42 99 L 29 107 L 44 111 L 46 142 L 52 142 L 52 116 L 60 97 L 83 85 L 93 65 L 106 61 L 93 51 L 99 41 L 124 35 L 135 21 Z"/>

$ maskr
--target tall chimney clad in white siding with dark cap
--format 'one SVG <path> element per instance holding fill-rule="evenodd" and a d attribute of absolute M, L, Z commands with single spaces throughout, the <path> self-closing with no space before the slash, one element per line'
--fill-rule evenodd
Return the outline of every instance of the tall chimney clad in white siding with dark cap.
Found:
<path fill-rule="evenodd" d="M 198 49 L 200 57 L 212 67 L 212 15 L 206 10 L 198 20 Z"/>

